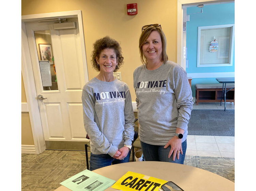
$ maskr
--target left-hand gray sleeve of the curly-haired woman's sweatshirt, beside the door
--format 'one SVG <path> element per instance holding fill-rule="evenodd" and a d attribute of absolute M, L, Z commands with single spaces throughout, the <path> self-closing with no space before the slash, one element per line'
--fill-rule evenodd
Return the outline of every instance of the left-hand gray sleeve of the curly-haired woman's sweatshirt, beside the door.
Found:
<path fill-rule="evenodd" d="M 108 139 L 99 130 L 95 122 L 95 109 L 93 95 L 82 90 L 82 105 L 84 115 L 84 126 L 90 141 L 103 154 L 109 154 L 111 157 L 115 155 L 118 148 L 109 143 Z"/>

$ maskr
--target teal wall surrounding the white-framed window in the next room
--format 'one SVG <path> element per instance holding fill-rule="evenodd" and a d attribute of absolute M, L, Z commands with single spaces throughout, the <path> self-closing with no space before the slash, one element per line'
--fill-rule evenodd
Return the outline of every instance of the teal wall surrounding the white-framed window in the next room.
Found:
<path fill-rule="evenodd" d="M 201 8 L 187 7 L 187 14 L 200 12 Z M 211 26 L 235 23 L 235 3 L 205 5 L 203 13 L 191 14 L 186 26 L 186 47 L 188 68 L 186 72 L 192 77 L 192 93 L 195 97 L 195 84 L 218 83 L 215 78 L 194 78 L 190 73 L 220 73 L 235 72 L 235 51 L 232 66 L 197 67 L 197 35 L 198 26 Z M 216 39 L 217 40 L 217 39 Z M 235 50 L 235 47 L 234 47 Z M 199 76 L 200 77 L 200 76 Z M 219 77 L 219 76 L 216 76 Z M 230 76 L 221 76 L 230 77 Z M 234 77 L 234 76 L 233 76 Z"/>

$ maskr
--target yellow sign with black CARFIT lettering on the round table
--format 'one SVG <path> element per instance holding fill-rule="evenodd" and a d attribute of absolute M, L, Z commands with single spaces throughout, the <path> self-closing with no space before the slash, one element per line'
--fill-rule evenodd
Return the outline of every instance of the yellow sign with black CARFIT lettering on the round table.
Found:
<path fill-rule="evenodd" d="M 166 180 L 128 171 L 111 188 L 118 190 L 158 191 Z"/>

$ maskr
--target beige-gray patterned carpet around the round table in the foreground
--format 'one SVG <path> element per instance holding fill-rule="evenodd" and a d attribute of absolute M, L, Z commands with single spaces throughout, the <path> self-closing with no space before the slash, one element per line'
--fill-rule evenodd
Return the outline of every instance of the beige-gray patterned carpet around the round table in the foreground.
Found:
<path fill-rule="evenodd" d="M 208 170 L 235 182 L 234 158 L 185 156 L 184 165 Z M 38 155 L 21 154 L 21 190 L 55 190 L 61 186 L 60 182 L 85 169 L 84 151 L 46 150 Z"/>

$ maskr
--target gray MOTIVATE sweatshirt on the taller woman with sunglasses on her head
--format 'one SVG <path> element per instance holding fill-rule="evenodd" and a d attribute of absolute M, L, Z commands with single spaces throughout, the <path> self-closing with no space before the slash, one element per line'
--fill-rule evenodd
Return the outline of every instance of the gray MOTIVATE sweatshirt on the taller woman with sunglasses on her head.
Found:
<path fill-rule="evenodd" d="M 192 91 L 186 71 L 167 61 L 156 70 L 141 65 L 133 73 L 138 109 L 139 137 L 151 145 L 165 145 L 174 137 L 176 128 L 184 130 L 193 108 Z"/>

